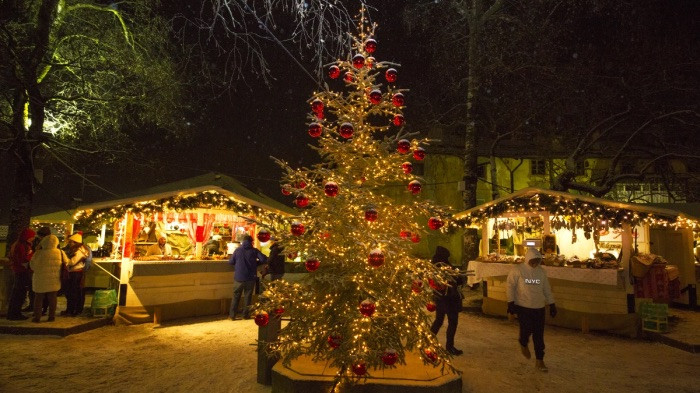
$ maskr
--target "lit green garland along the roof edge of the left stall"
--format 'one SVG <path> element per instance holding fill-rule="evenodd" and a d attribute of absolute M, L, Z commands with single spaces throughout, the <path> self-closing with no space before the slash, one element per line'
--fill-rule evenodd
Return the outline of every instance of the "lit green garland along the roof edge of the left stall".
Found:
<path fill-rule="evenodd" d="M 257 206 L 237 201 L 232 197 L 216 191 L 205 191 L 185 196 L 171 196 L 153 201 L 143 201 L 97 210 L 80 210 L 76 213 L 76 224 L 83 227 L 96 228 L 105 222 L 121 219 L 126 213 L 156 214 L 165 211 L 182 212 L 194 209 L 229 210 L 239 216 L 255 216 L 256 221 L 264 226 L 276 227 L 286 220 L 277 213 L 269 212 Z"/>

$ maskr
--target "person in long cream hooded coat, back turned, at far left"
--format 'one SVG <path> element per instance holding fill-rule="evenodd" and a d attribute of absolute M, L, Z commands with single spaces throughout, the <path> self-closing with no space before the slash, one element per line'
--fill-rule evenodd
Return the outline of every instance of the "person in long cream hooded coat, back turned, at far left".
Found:
<path fill-rule="evenodd" d="M 56 293 L 61 289 L 61 264 L 67 260 L 68 256 L 58 248 L 56 236 L 48 235 L 41 239 L 31 261 L 29 261 L 29 267 L 34 271 L 32 275 L 32 289 L 34 290 L 34 318 L 32 318 L 32 322 L 41 320 L 44 295 L 49 301 L 48 321 L 51 322 L 56 318 Z"/>

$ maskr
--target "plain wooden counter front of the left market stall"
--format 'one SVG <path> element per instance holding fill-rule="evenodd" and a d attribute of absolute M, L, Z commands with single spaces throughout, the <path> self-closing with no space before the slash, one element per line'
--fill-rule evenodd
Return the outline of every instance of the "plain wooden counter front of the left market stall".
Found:
<path fill-rule="evenodd" d="M 122 263 L 119 315 L 132 323 L 228 312 L 233 266 L 226 260 Z"/>

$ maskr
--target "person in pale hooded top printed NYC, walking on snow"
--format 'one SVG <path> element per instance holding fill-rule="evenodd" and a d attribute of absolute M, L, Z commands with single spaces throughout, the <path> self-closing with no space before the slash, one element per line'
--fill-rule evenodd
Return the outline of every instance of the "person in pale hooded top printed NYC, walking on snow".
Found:
<path fill-rule="evenodd" d="M 535 346 L 535 367 L 547 371 L 544 364 L 544 317 L 545 306 L 549 305 L 549 315 L 557 315 L 552 289 L 547 274 L 542 269 L 542 254 L 529 247 L 525 252 L 525 261 L 515 266 L 508 274 L 506 296 L 508 314 L 517 314 L 520 323 L 520 351 L 530 359 L 528 342 L 532 336 Z"/>

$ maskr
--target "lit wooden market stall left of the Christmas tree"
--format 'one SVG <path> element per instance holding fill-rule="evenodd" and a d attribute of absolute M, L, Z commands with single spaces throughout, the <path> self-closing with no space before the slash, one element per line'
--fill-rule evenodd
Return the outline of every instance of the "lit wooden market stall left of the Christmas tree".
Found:
<path fill-rule="evenodd" d="M 137 323 L 226 312 L 233 292 L 230 254 L 246 234 L 265 252 L 258 232 L 279 227 L 291 214 L 212 173 L 81 206 L 76 218 L 82 226 L 111 227 L 111 255 L 98 263 L 119 264 L 117 313 Z"/>

